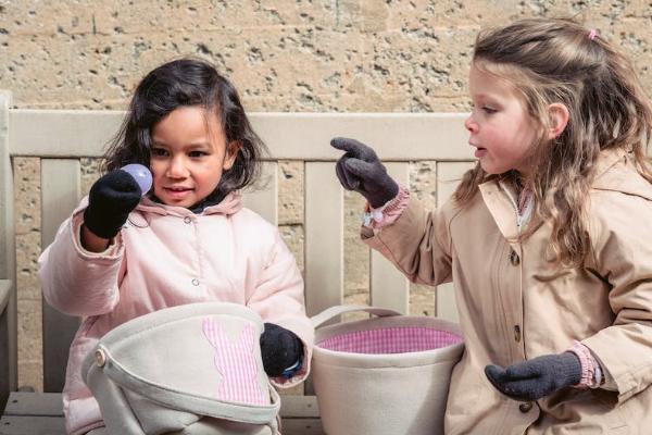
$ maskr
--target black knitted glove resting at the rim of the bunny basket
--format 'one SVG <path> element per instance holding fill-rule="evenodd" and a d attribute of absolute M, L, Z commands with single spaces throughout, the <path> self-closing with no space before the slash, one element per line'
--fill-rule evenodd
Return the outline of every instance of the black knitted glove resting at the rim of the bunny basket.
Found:
<path fill-rule="evenodd" d="M 265 373 L 269 377 L 277 377 L 303 356 L 303 343 L 291 331 L 265 323 L 265 331 L 261 335 L 261 356 Z"/>

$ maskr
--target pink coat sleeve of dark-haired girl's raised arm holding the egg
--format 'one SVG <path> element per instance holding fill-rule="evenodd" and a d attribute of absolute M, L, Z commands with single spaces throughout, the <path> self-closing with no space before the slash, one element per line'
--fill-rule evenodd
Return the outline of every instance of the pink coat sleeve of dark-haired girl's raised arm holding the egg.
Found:
<path fill-rule="evenodd" d="M 38 277 L 50 306 L 70 315 L 98 315 L 110 312 L 118 301 L 122 238 L 104 252 L 82 247 L 82 206 L 57 232 L 54 241 L 38 259 Z"/>

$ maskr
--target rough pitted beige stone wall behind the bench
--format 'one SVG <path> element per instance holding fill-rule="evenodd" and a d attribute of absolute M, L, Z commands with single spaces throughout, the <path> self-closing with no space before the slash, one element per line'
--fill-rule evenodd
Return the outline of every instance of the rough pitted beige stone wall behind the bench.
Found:
<path fill-rule="evenodd" d="M 538 15 L 582 17 L 632 57 L 652 90 L 649 0 L 0 0 L 0 88 L 21 109 L 122 110 L 147 71 L 195 54 L 231 78 L 249 111 L 460 112 L 478 29 Z M 83 167 L 86 191 L 97 162 Z M 14 172 L 20 385 L 40 389 L 39 162 L 15 159 Z M 435 175 L 413 165 L 411 187 L 430 203 Z M 301 163 L 281 164 L 279 186 L 281 233 L 301 263 Z M 346 203 L 347 300 L 366 301 L 362 201 Z M 434 310 L 432 290 L 413 287 L 411 312 Z"/>

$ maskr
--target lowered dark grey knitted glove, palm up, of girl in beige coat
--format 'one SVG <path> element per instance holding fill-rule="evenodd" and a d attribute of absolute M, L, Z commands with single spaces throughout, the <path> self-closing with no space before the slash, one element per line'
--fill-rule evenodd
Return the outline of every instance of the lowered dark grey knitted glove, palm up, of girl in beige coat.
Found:
<path fill-rule="evenodd" d="M 487 365 L 485 374 L 505 396 L 515 400 L 538 400 L 541 397 L 581 380 L 581 363 L 573 352 L 546 355 L 503 369 Z"/>

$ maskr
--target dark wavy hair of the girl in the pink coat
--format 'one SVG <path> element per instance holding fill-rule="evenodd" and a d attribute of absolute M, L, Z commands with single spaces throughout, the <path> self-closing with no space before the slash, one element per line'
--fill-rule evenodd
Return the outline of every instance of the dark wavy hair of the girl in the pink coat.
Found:
<path fill-rule="evenodd" d="M 104 153 L 102 172 L 128 163 L 149 167 L 153 126 L 175 109 L 186 105 L 202 105 L 206 112 L 214 110 L 226 142 L 240 144 L 234 165 L 222 174 L 211 196 L 224 197 L 255 182 L 261 157 L 267 148 L 253 132 L 236 88 L 214 65 L 195 58 L 167 62 L 138 84 L 122 127 Z"/>

